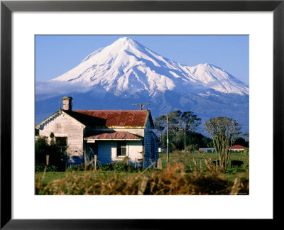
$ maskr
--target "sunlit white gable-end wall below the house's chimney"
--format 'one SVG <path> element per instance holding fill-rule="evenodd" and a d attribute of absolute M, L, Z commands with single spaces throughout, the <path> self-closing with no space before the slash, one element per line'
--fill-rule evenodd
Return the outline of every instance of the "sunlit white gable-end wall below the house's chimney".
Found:
<path fill-rule="evenodd" d="M 50 143 L 50 133 L 55 137 L 67 137 L 68 166 L 80 165 L 83 156 L 83 130 L 84 126 L 66 114 L 53 116 L 48 122 L 40 126 L 39 135 L 47 136 Z"/>

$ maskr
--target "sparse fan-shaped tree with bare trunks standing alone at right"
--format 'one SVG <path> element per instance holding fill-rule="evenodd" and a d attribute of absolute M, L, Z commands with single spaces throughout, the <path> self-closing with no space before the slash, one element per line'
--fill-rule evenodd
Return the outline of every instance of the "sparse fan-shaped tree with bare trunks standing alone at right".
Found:
<path fill-rule="evenodd" d="M 219 155 L 220 168 L 225 172 L 230 159 L 230 148 L 239 136 L 241 125 L 227 117 L 211 118 L 204 123 L 205 131 L 212 138 L 216 154 Z"/>

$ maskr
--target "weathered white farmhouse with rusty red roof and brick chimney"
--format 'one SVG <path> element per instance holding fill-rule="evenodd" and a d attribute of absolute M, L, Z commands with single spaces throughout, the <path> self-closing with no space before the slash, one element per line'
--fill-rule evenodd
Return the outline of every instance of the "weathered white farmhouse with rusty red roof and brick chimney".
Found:
<path fill-rule="evenodd" d="M 40 122 L 39 136 L 65 149 L 67 165 L 124 160 L 147 168 L 158 161 L 158 138 L 149 110 L 72 110 L 72 97 L 63 97 L 62 109 Z"/>

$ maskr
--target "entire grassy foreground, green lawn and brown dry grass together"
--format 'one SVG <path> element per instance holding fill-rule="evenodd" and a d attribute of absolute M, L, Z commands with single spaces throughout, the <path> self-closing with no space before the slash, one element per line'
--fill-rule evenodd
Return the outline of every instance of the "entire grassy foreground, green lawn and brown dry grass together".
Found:
<path fill-rule="evenodd" d="M 212 175 L 203 165 L 203 156 L 171 154 L 170 165 L 161 154 L 163 170 L 141 172 L 37 172 L 36 195 L 249 195 L 249 156 L 234 153 L 231 159 L 244 160 L 241 168 Z M 194 160 L 193 160 L 194 158 Z M 214 156 L 212 155 L 214 159 Z M 192 163 L 191 163 L 192 160 Z M 196 166 L 193 165 L 196 162 Z"/>

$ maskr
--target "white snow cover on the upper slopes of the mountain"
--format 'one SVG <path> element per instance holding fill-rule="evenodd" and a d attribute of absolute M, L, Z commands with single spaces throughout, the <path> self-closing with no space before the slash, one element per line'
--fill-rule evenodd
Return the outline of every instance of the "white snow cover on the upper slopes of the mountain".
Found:
<path fill-rule="evenodd" d="M 180 93 L 203 89 L 217 92 L 249 94 L 249 87 L 212 64 L 195 67 L 168 60 L 136 40 L 119 38 L 105 48 L 89 54 L 77 67 L 56 77 L 61 82 L 82 83 L 86 87 L 101 87 L 114 94 L 176 90 Z"/>

